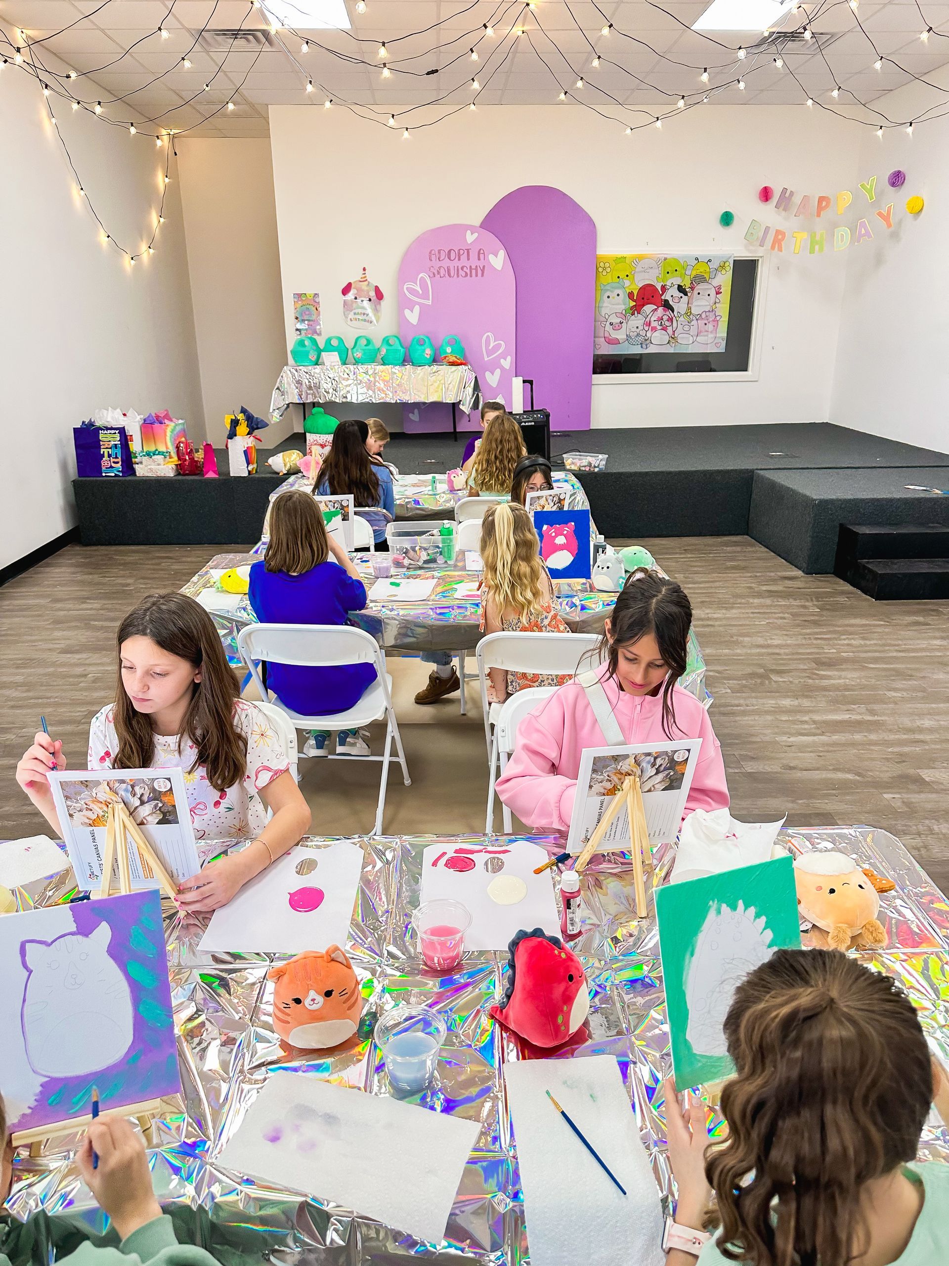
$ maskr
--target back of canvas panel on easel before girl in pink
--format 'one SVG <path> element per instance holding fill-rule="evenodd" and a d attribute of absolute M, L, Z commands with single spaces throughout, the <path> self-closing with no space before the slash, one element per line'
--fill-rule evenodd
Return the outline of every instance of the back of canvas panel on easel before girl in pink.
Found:
<path fill-rule="evenodd" d="M 580 772 L 577 774 L 577 795 L 573 801 L 573 815 L 571 817 L 571 829 L 567 837 L 567 848 L 572 853 L 581 853 L 583 846 L 592 836 L 597 824 L 612 803 L 611 795 L 597 795 L 591 789 L 591 779 L 595 785 L 607 781 L 606 772 L 614 767 L 621 771 L 628 763 L 628 758 L 640 753 L 671 753 L 679 757 L 677 763 L 683 766 L 672 780 L 672 785 L 666 789 L 649 789 L 649 775 L 643 777 L 643 809 L 645 812 L 645 828 L 649 833 L 649 843 L 653 848 L 657 844 L 672 843 L 678 834 L 682 823 L 682 812 L 686 806 L 688 789 L 692 786 L 696 762 L 698 761 L 698 748 L 701 738 L 683 738 L 673 743 L 629 743 L 621 747 L 587 747 L 580 760 Z M 630 842 L 629 818 L 625 810 L 620 809 L 610 823 L 602 841 L 602 848 L 628 848 Z"/>

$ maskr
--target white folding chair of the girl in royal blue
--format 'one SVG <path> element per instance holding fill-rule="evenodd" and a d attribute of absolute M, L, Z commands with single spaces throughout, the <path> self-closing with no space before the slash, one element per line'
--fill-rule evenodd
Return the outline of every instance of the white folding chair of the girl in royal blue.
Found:
<path fill-rule="evenodd" d="M 402 766 L 402 781 L 411 786 L 409 766 L 405 762 L 402 736 L 399 733 L 395 708 L 392 706 L 392 679 L 386 672 L 386 658 L 375 638 L 362 629 L 347 624 L 248 624 L 238 636 L 240 658 L 251 670 L 251 676 L 261 698 L 268 699 L 258 663 L 291 663 L 320 667 L 338 667 L 348 663 L 372 663 L 376 667 L 376 680 L 347 711 L 313 714 L 304 717 L 292 711 L 273 695 L 272 704 L 290 719 L 295 729 L 356 729 L 373 720 L 386 719 L 386 748 L 382 756 L 330 755 L 332 761 L 380 761 L 378 804 L 373 834 L 382 834 L 382 814 L 386 806 L 386 785 L 391 760 L 392 739 L 395 738 L 399 763 Z"/>

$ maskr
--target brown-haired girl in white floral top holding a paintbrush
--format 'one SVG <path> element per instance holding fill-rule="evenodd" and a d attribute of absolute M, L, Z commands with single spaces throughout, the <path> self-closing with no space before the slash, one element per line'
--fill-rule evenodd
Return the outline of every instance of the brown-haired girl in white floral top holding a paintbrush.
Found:
<path fill-rule="evenodd" d="M 299 842 L 310 810 L 267 717 L 239 699 L 218 630 L 199 603 L 153 594 L 125 617 L 116 641 L 116 701 L 92 718 L 89 768 L 177 766 L 195 838 L 252 841 L 180 885 L 180 906 L 214 910 Z M 47 779 L 56 767 L 66 767 L 62 743 L 39 733 L 16 766 L 16 781 L 62 834 Z"/>

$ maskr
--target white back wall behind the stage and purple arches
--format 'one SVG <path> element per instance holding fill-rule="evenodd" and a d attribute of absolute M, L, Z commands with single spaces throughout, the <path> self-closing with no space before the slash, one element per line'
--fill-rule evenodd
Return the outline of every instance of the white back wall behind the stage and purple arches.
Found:
<path fill-rule="evenodd" d="M 292 291 L 318 290 L 324 332 L 343 332 L 339 291 L 362 265 L 386 292 L 380 333 L 397 333 L 396 273 L 412 238 L 477 223 L 520 185 L 574 197 L 602 252 L 741 253 L 762 184 L 844 187 L 858 146 L 852 125 L 801 106 L 710 105 L 629 137 L 573 105 L 466 110 L 407 141 L 321 105 L 271 106 L 270 118 L 287 346 Z M 725 209 L 736 216 L 729 230 L 719 227 Z M 845 265 L 831 253 L 768 256 L 767 267 L 757 381 L 599 382 L 593 425 L 826 419 Z M 555 401 L 538 404 L 555 425 Z"/>

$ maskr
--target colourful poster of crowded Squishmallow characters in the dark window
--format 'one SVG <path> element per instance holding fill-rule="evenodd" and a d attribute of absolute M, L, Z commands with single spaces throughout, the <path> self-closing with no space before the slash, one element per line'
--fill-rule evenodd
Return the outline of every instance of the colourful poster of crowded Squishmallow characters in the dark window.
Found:
<path fill-rule="evenodd" d="M 733 268 L 724 254 L 599 254 L 593 354 L 724 352 Z"/>

